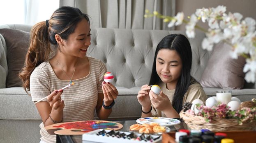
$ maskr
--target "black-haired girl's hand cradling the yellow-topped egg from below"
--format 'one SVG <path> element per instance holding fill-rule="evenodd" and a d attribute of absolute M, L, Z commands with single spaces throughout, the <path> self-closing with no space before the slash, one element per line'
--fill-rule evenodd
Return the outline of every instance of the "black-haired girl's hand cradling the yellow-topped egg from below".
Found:
<path fill-rule="evenodd" d="M 166 96 L 162 91 L 159 95 L 155 94 L 150 90 L 149 97 L 151 104 L 156 109 L 159 109 L 161 111 L 164 111 L 166 109 L 171 109 L 171 101 L 169 100 L 168 96 Z"/>

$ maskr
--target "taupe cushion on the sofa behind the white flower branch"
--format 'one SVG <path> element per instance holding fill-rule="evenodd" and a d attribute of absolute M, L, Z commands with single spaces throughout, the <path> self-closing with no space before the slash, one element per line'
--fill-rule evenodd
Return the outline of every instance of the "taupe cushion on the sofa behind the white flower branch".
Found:
<path fill-rule="evenodd" d="M 230 50 L 231 47 L 224 42 L 216 45 L 200 81 L 203 87 L 243 88 L 245 58 L 231 58 Z"/>

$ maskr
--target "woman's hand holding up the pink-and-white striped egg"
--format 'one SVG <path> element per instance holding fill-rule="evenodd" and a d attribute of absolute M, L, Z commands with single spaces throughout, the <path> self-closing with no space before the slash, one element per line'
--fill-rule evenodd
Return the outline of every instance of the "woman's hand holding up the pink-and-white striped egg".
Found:
<path fill-rule="evenodd" d="M 102 82 L 102 90 L 104 94 L 104 105 L 109 106 L 118 96 L 118 90 L 114 85 L 109 82 L 106 83 L 105 81 Z"/>

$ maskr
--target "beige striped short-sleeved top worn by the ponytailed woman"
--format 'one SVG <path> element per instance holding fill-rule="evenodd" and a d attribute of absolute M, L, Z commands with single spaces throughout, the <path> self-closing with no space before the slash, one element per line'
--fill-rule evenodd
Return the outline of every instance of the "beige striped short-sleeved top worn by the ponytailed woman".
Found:
<path fill-rule="evenodd" d="M 88 76 L 72 80 L 75 85 L 64 90 L 61 95 L 65 103 L 64 122 L 93 120 L 97 105 L 98 93 L 102 93 L 102 82 L 106 73 L 106 66 L 101 60 L 88 57 L 90 72 Z M 69 84 L 69 80 L 60 80 L 54 73 L 48 61 L 41 63 L 30 76 L 30 93 L 32 101 L 39 101 L 56 89 L 61 89 Z M 46 101 L 46 100 L 45 100 Z M 47 143 L 56 142 L 56 136 L 50 135 L 41 128 L 41 140 Z"/>

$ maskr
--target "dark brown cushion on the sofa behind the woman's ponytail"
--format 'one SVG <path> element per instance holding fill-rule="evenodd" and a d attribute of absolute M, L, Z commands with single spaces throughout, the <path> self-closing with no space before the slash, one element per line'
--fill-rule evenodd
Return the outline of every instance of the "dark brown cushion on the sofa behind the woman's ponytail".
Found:
<path fill-rule="evenodd" d="M 6 87 L 22 86 L 18 72 L 24 66 L 28 51 L 30 33 L 17 29 L 0 29 L 7 45 L 8 76 Z"/>

